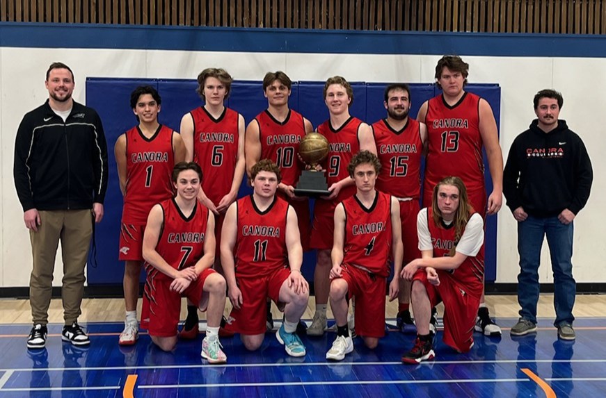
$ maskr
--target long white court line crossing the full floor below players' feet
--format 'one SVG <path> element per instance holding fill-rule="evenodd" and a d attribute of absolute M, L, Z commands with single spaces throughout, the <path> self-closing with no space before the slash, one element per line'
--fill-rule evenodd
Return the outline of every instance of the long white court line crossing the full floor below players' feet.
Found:
<path fill-rule="evenodd" d="M 421 366 L 432 365 L 476 365 L 491 363 L 606 363 L 606 359 L 501 359 L 501 360 L 431 360 L 420 363 Z M 296 366 L 403 366 L 401 361 L 392 362 L 301 362 L 301 363 L 228 363 L 224 365 L 148 365 L 148 366 L 92 366 L 92 367 L 36 367 L 0 369 L 0 372 L 65 372 L 69 370 L 156 370 L 156 369 L 202 369 L 205 367 L 296 367 Z"/>

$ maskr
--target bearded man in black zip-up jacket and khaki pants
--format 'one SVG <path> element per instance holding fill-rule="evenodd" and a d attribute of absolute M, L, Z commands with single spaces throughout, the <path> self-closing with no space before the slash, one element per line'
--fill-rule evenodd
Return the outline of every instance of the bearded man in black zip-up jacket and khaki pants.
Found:
<path fill-rule="evenodd" d="M 31 349 L 45 347 L 54 260 L 63 251 L 63 340 L 88 345 L 78 325 L 84 267 L 94 222 L 103 217 L 107 145 L 99 115 L 72 99 L 74 74 L 63 63 L 47 71 L 49 99 L 27 113 L 15 141 L 15 187 L 30 230 L 33 270 Z M 92 215 L 91 215 L 92 210 Z"/>

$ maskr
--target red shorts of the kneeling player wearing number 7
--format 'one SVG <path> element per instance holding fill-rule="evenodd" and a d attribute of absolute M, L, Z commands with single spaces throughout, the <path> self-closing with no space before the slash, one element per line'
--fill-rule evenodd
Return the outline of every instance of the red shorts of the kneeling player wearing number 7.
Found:
<path fill-rule="evenodd" d="M 201 310 L 206 310 L 208 293 L 204 292 L 204 283 L 210 274 L 215 271 L 208 268 L 198 276 L 196 281 L 180 295 L 170 290 L 173 279 L 148 278 L 143 295 L 143 308 L 141 309 L 141 327 L 147 329 L 150 335 L 171 337 L 177 335 L 177 324 L 181 315 L 181 297 L 187 297 L 192 303 L 198 303 Z"/>

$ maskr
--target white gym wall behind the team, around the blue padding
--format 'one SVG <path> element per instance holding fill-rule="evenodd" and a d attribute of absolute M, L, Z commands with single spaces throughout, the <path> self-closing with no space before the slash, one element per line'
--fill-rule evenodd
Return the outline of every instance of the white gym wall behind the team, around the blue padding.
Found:
<path fill-rule="evenodd" d="M 465 56 L 465 53 L 461 56 L 470 63 L 470 82 L 501 85 L 500 142 L 504 157 L 516 135 L 534 118 L 534 94 L 543 88 L 555 88 L 564 94 L 560 117 L 582 136 L 596 176 L 589 204 L 575 219 L 575 278 L 580 283 L 606 282 L 600 260 L 606 257 L 606 245 L 601 242 L 603 227 L 600 227 L 601 220 L 606 219 L 606 209 L 600 206 L 601 192 L 606 191 L 605 182 L 600 179 L 606 159 L 600 155 L 606 152 L 606 141 L 601 137 L 602 125 L 598 122 L 603 113 L 600 88 L 606 86 L 603 73 L 606 59 L 481 57 Z M 439 58 L 0 47 L 0 287 L 29 285 L 31 249 L 13 185 L 13 146 L 24 113 L 39 106 L 48 96 L 44 74 L 51 62 L 61 60 L 72 67 L 76 78 L 74 99 L 83 103 L 84 82 L 92 76 L 195 78 L 204 67 L 218 66 L 228 69 L 237 80 L 260 81 L 267 71 L 280 69 L 297 81 L 324 81 L 328 76 L 341 74 L 349 81 L 428 83 L 433 81 Z M 516 282 L 516 223 L 505 206 L 498 217 L 497 283 Z M 541 282 L 552 282 L 546 243 L 542 263 Z M 55 284 L 61 284 L 61 270 L 56 270 Z"/>

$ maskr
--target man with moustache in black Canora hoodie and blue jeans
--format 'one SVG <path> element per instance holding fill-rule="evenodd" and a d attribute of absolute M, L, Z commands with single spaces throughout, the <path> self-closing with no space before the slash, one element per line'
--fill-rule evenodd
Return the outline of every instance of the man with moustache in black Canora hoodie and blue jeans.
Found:
<path fill-rule="evenodd" d="M 547 235 L 555 285 L 554 326 L 558 337 L 574 340 L 573 219 L 587 204 L 593 171 L 587 149 L 564 120 L 558 119 L 564 99 L 555 90 L 534 97 L 535 119 L 513 141 L 503 174 L 507 206 L 518 221 L 518 303 L 520 320 L 512 335 L 536 331 L 539 260 Z"/>

